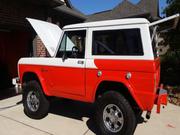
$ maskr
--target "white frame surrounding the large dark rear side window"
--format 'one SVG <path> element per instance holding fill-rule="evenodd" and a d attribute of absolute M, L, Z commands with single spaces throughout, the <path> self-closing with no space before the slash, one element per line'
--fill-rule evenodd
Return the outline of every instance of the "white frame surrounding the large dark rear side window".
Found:
<path fill-rule="evenodd" d="M 139 28 L 141 33 L 142 45 L 143 45 L 143 56 L 105 56 L 105 55 L 92 55 L 92 33 L 93 31 L 100 30 L 117 30 L 117 29 L 132 29 Z M 133 24 L 133 25 L 115 25 L 111 27 L 93 27 L 88 29 L 88 44 L 87 44 L 87 59 L 119 59 L 119 60 L 154 60 L 154 55 L 151 47 L 151 38 L 149 33 L 148 24 Z"/>

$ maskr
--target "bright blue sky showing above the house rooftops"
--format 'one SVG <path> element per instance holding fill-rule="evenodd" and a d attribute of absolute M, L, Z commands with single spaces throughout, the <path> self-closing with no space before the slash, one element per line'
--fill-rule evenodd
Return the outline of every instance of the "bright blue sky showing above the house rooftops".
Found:
<path fill-rule="evenodd" d="M 138 3 L 140 0 L 129 0 L 132 3 Z M 71 3 L 78 10 L 86 15 L 93 14 L 100 11 L 110 10 L 116 5 L 118 5 L 122 0 L 71 0 Z M 166 0 L 159 0 L 160 15 L 163 9 L 167 6 Z"/>

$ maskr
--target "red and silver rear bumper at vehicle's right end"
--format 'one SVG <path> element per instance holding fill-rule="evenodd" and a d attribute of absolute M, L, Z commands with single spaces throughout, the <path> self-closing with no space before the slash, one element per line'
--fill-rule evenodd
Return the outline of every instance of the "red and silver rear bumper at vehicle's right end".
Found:
<path fill-rule="evenodd" d="M 161 111 L 161 105 L 167 105 L 168 95 L 167 90 L 160 88 L 156 94 L 155 104 L 157 105 L 157 113 Z"/>

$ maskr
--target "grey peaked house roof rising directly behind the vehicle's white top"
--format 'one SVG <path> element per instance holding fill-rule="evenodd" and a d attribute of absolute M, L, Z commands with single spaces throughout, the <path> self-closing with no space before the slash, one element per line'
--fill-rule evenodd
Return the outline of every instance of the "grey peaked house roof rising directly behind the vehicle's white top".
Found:
<path fill-rule="evenodd" d="M 134 17 L 146 18 L 149 21 L 154 21 L 159 18 L 158 6 L 158 0 L 141 0 L 137 4 L 124 0 L 112 10 L 89 15 L 86 22 Z"/>

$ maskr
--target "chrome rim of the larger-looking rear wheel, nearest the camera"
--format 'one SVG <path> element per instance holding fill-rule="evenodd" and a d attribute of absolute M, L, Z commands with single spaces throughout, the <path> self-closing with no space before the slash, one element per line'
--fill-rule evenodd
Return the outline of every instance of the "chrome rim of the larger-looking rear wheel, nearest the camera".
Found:
<path fill-rule="evenodd" d="M 109 104 L 104 108 L 103 121 L 109 131 L 117 133 L 124 125 L 123 113 L 117 105 Z"/>

